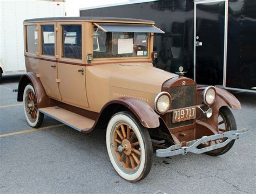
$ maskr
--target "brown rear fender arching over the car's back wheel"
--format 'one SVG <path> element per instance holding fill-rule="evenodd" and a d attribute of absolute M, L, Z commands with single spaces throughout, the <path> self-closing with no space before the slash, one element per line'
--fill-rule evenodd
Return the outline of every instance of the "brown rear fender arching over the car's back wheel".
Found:
<path fill-rule="evenodd" d="M 39 78 L 36 77 L 36 73 L 33 72 L 23 74 L 21 79 L 19 80 L 17 101 L 23 101 L 24 89 L 26 85 L 30 83 L 35 89 L 38 108 L 54 106 L 55 103 L 53 102 L 53 100 L 48 98 L 41 81 L 39 80 Z"/>

